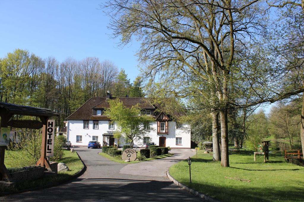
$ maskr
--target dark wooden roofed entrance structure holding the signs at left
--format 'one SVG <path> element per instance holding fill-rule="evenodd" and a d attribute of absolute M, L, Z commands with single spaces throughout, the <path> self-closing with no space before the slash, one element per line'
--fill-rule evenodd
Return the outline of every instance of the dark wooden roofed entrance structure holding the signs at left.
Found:
<path fill-rule="evenodd" d="M 58 114 L 50 109 L 36 108 L 36 107 L 0 102 L 1 127 L 8 127 L 8 122 L 14 115 L 34 116 L 34 117 L 40 118 L 41 126 L 38 126 L 38 128 L 36 128 L 36 129 L 39 129 L 42 127 L 41 157 L 36 165 L 40 165 L 41 167 L 51 169 L 50 163 L 46 157 L 46 146 L 47 146 L 47 130 L 46 130 L 47 127 L 46 126 L 47 126 L 47 121 L 49 120 L 49 118 L 53 117 L 53 116 L 58 116 Z M 37 122 L 39 122 L 39 121 L 37 121 Z M 22 126 L 22 127 L 30 128 L 30 127 L 24 127 L 24 126 Z M 0 180 L 3 180 L 3 178 L 5 178 L 6 181 L 11 182 L 12 180 L 11 180 L 10 174 L 4 164 L 4 156 L 5 156 L 6 148 L 7 148 L 7 146 L 0 146 L 0 174 L 1 174 Z"/>

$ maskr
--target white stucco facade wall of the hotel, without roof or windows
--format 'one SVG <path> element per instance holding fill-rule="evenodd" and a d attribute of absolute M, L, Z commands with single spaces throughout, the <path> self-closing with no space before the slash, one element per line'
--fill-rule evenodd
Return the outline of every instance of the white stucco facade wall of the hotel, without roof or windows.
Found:
<path fill-rule="evenodd" d="M 189 126 L 183 124 L 184 129 L 176 129 L 176 122 L 169 121 L 168 122 L 168 134 L 159 134 L 157 135 L 157 122 L 155 121 L 152 124 L 154 131 L 151 131 L 149 135 L 146 137 L 150 137 L 151 141 L 155 144 L 159 145 L 159 137 L 166 137 L 166 147 L 171 148 L 190 148 L 191 147 L 191 135 L 190 130 L 188 130 Z M 117 129 L 117 125 L 114 125 L 114 129 Z M 67 130 L 67 139 L 71 141 L 72 145 L 88 145 L 89 141 L 92 141 L 92 136 L 98 136 L 98 141 L 103 142 L 102 134 L 107 133 L 107 131 L 115 131 L 109 130 L 109 121 L 98 121 L 98 129 L 93 129 L 93 121 L 89 121 L 89 129 L 83 128 L 83 121 L 78 120 L 69 120 L 68 121 L 68 130 Z M 76 142 L 76 136 L 82 135 L 82 142 Z M 181 137 L 182 141 L 180 145 L 176 145 L 176 137 Z M 106 141 L 109 144 L 108 141 Z M 117 144 L 117 140 L 115 139 L 115 144 Z M 122 147 L 125 143 L 123 138 L 120 140 L 119 146 Z M 134 147 L 142 147 L 143 140 L 134 142 Z"/>

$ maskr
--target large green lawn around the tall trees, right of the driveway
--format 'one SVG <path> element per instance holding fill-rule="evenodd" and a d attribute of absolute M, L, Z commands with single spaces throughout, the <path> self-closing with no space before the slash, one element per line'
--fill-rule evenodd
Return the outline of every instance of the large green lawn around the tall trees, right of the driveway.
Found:
<path fill-rule="evenodd" d="M 212 153 L 203 152 L 198 151 L 198 156 L 192 157 L 192 184 L 187 161 L 170 167 L 170 175 L 220 201 L 304 201 L 304 167 L 285 163 L 282 154 L 270 154 L 270 162 L 263 163 L 262 155 L 257 155 L 254 162 L 251 151 L 233 152 L 229 155 L 230 167 L 226 168 L 212 161 Z"/>

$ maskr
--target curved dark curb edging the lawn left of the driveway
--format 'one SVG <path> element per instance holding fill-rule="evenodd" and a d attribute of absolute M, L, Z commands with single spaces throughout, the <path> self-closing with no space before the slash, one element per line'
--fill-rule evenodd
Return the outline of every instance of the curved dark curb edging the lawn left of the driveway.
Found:
<path fill-rule="evenodd" d="M 0 193 L 0 196 L 10 195 L 10 194 L 19 194 L 19 193 L 28 192 L 28 191 L 35 191 L 35 190 L 39 190 L 39 189 L 46 189 L 46 188 L 50 188 L 50 187 L 55 187 L 55 186 L 58 186 L 58 185 L 61 185 L 61 184 L 68 183 L 69 181 L 73 180 L 74 178 L 77 178 L 77 177 L 81 176 L 86 171 L 87 167 L 86 167 L 85 163 L 82 161 L 79 154 L 77 152 L 76 152 L 76 154 L 79 157 L 83 167 L 81 168 L 80 171 L 78 171 L 78 173 L 75 173 L 74 175 L 69 177 L 67 180 L 53 182 L 53 183 L 50 183 L 50 184 L 45 184 L 45 185 L 40 186 L 40 187 L 33 187 L 33 188 L 28 188 L 28 189 L 23 189 L 23 190 L 18 190 L 18 191 L 2 192 L 2 193 Z"/>

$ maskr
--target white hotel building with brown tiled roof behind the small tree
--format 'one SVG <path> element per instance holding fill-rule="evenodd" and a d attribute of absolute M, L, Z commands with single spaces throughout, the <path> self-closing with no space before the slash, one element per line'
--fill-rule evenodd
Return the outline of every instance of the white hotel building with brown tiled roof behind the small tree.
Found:
<path fill-rule="evenodd" d="M 107 116 L 103 115 L 105 108 L 109 107 L 107 102 L 112 98 L 92 97 L 85 102 L 78 110 L 67 117 L 67 139 L 72 145 L 87 146 L 89 141 L 97 140 L 101 145 L 117 145 L 117 139 L 113 138 L 113 131 L 117 125 Z M 144 143 L 154 142 L 160 147 L 190 148 L 191 135 L 187 124 L 177 123 L 164 112 L 157 113 L 160 106 L 150 103 L 148 98 L 118 98 L 124 106 L 131 107 L 139 104 L 142 113 L 153 116 L 155 122 L 150 126 L 154 128 L 143 140 L 134 142 L 134 147 L 142 147 Z M 126 144 L 120 140 L 119 147 Z"/>

